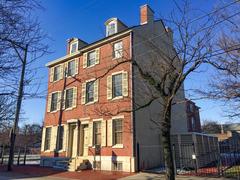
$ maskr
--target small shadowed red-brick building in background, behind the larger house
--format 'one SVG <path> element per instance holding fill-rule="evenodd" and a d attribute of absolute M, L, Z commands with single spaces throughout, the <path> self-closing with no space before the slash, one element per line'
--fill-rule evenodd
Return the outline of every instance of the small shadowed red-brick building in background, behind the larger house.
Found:
<path fill-rule="evenodd" d="M 202 132 L 199 109 L 193 101 L 186 99 L 186 112 L 188 119 L 188 132 Z"/>

